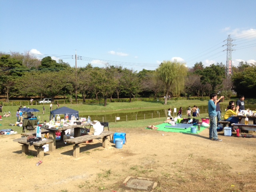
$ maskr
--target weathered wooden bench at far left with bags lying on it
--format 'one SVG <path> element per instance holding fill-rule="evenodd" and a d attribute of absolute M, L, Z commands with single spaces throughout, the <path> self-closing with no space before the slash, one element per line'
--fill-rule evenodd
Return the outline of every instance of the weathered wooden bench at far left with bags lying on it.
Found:
<path fill-rule="evenodd" d="M 28 154 L 28 146 L 30 145 L 30 143 L 27 142 L 26 137 L 14 139 L 13 141 L 22 144 L 22 154 Z M 44 157 L 44 148 L 42 148 L 42 146 L 44 146 L 46 144 L 50 144 L 52 142 L 53 142 L 53 140 L 47 139 L 47 140 L 41 140 L 39 142 L 33 143 L 35 150 L 37 150 L 38 158 Z"/>

